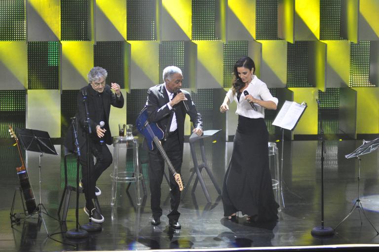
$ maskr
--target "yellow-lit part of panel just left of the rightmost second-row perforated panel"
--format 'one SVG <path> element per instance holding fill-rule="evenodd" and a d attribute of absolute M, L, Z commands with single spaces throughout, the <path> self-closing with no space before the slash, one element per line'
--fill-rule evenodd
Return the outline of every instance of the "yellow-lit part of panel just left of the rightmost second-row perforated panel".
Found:
<path fill-rule="evenodd" d="M 334 72 L 349 84 L 350 74 L 350 42 L 348 41 L 323 41 L 327 44 L 327 63 Z"/>

